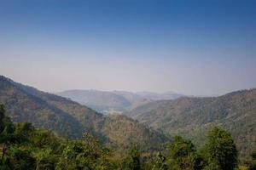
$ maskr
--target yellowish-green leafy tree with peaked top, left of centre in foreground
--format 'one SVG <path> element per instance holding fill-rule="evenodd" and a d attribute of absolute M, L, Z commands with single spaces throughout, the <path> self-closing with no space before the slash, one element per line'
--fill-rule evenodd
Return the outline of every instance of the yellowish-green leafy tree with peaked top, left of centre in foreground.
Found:
<path fill-rule="evenodd" d="M 65 144 L 56 169 L 111 169 L 107 159 L 109 150 L 90 133 L 83 136 L 84 140 L 72 140 Z"/>

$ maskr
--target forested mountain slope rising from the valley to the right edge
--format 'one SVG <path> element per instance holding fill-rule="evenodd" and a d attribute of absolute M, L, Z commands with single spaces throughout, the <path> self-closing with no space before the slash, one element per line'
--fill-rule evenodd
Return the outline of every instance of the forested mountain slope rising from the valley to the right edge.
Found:
<path fill-rule="evenodd" d="M 191 138 L 197 144 L 204 141 L 212 126 L 224 127 L 235 137 L 241 156 L 256 146 L 256 89 L 219 97 L 153 101 L 126 115 L 164 133 Z"/>

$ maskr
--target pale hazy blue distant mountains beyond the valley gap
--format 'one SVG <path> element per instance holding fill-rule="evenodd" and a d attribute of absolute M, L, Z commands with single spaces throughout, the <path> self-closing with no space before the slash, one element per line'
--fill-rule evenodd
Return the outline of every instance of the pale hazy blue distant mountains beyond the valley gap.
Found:
<path fill-rule="evenodd" d="M 102 113 L 122 113 L 130 111 L 145 101 L 160 99 L 177 99 L 182 94 L 168 92 L 156 94 L 151 92 L 126 92 L 126 91 L 99 91 L 99 90 L 67 90 L 56 93 L 67 99 L 79 102 L 81 105 L 88 105 L 90 108 Z"/>

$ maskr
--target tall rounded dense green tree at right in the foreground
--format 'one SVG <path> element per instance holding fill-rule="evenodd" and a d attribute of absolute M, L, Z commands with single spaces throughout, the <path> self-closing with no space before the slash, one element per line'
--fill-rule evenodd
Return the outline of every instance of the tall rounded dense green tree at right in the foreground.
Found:
<path fill-rule="evenodd" d="M 233 170 L 237 167 L 238 152 L 234 139 L 228 131 L 213 127 L 207 134 L 204 148 L 208 167 L 212 166 L 212 169 L 219 170 Z"/>

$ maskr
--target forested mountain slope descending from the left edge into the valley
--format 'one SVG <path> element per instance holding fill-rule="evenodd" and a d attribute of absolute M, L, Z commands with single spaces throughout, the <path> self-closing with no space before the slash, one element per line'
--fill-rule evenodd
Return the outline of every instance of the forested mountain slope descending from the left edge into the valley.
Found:
<path fill-rule="evenodd" d="M 0 103 L 14 122 L 32 122 L 71 138 L 82 133 L 96 135 L 102 143 L 117 148 L 138 144 L 143 149 L 155 149 L 167 140 L 162 133 L 149 129 L 127 116 L 104 116 L 90 108 L 55 94 L 0 77 Z"/>

